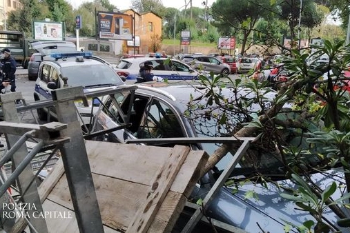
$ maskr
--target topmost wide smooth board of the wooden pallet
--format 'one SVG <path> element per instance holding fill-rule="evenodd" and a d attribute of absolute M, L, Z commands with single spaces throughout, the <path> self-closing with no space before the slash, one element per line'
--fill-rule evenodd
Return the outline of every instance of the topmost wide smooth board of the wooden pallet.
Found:
<path fill-rule="evenodd" d="M 150 185 L 172 148 L 86 141 L 93 173 Z M 142 176 L 140 176 L 142 174 Z"/>

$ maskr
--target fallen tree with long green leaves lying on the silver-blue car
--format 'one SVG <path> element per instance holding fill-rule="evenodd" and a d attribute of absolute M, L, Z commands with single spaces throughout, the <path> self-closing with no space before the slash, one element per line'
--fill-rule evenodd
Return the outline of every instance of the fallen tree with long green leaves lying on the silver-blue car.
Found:
<path fill-rule="evenodd" d="M 336 190 L 336 185 L 332 183 L 326 188 L 321 188 L 309 179 L 309 172 L 314 170 L 322 172 L 329 168 L 342 167 L 347 186 L 347 193 L 344 193 L 342 199 L 348 199 L 350 196 L 350 88 L 349 77 L 344 72 L 348 70 L 350 63 L 350 47 L 344 47 L 343 43 L 344 41 L 331 44 L 325 41 L 324 48 L 314 48 L 315 52 L 312 54 L 307 50 L 291 50 L 291 57 L 284 57 L 284 69 L 290 73 L 289 80 L 273 86 L 278 90 L 278 94 L 273 98 L 271 105 L 264 104 L 263 97 L 264 93 L 271 91 L 269 87 L 272 84 L 268 81 L 236 79 L 226 84 L 230 86 L 233 94 L 239 93 L 242 88 L 253 93 L 251 97 L 237 100 L 228 99 L 221 92 L 214 91 L 221 90 L 224 85 L 220 77 L 201 76 L 200 80 L 206 86 L 206 92 L 202 99 L 193 99 L 193 103 L 188 105 L 188 112 L 185 113 L 191 119 L 214 119 L 217 122 L 216 135 L 220 135 L 222 130 L 224 135 L 231 134 L 236 138 L 256 137 L 253 148 L 247 153 L 249 161 L 260 161 L 262 151 L 269 152 L 273 158 L 279 158 L 283 163 L 285 175 L 291 176 L 301 187 L 284 196 L 297 201 L 298 208 L 310 212 L 315 217 L 316 223 L 304 223 L 304 226 L 309 228 L 313 226 L 315 232 L 340 230 L 336 223 L 324 220 L 324 205 L 339 219 L 347 219 L 347 214 L 337 205 L 339 203 L 334 203 L 330 198 Z M 329 62 L 318 65 L 315 61 L 325 54 L 329 57 Z M 310 57 L 315 60 L 310 62 Z M 201 101 L 204 103 L 196 105 Z M 292 106 L 285 108 L 286 103 L 292 103 Z M 260 108 L 251 112 L 252 104 L 260 105 Z M 200 109 L 200 114 L 191 116 L 195 108 Z M 215 108 L 222 108 L 222 111 L 215 111 Z M 281 118 L 281 115 L 284 118 Z M 238 122 L 231 123 L 233 117 Z M 299 140 L 295 147 L 292 147 L 291 141 L 295 136 Z M 213 169 L 227 152 L 234 150 L 233 148 L 235 145 L 224 144 L 215 150 L 204 172 Z M 322 161 L 317 163 L 315 168 L 312 163 L 305 164 L 300 159 L 303 156 L 310 157 L 311 154 Z M 287 155 L 291 155 L 292 158 L 288 160 Z M 253 179 L 248 178 L 245 182 L 255 182 L 256 177 Z M 268 175 L 262 176 L 257 183 L 264 185 L 264 181 L 267 180 Z M 238 186 L 240 184 L 237 183 Z M 313 203 L 316 203 L 317 211 Z"/>

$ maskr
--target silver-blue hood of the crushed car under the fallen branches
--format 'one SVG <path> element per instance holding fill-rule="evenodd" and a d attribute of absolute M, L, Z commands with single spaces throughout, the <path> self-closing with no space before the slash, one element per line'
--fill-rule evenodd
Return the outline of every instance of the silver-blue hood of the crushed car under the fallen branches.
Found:
<path fill-rule="evenodd" d="M 344 172 L 335 170 L 311 175 L 311 179 L 321 187 L 326 187 L 333 181 L 340 185 L 343 177 Z M 277 183 L 280 187 L 291 190 L 298 189 L 290 180 L 278 181 Z M 248 183 L 240 186 L 238 191 L 233 187 L 221 188 L 206 210 L 206 214 L 224 223 L 240 227 L 247 232 L 262 232 L 262 230 L 263 232 L 284 232 L 286 222 L 297 226 L 308 220 L 316 222 L 309 212 L 298 210 L 299 207 L 295 203 L 283 199 L 280 194 L 284 190 L 272 183 L 268 183 L 267 187 L 266 189 L 263 185 Z M 204 198 L 204 195 L 208 193 L 208 190 L 201 190 L 198 187 L 196 189 L 195 196 L 203 194 L 202 198 Z M 333 199 L 338 199 L 341 196 L 340 191 L 338 191 L 333 194 Z M 253 192 L 255 193 L 254 197 L 247 197 Z M 328 221 L 337 225 L 336 222 L 339 218 L 331 210 L 327 209 L 324 216 Z M 348 228 L 340 228 L 340 231 L 350 232 Z M 297 231 L 295 230 L 295 232 Z"/>

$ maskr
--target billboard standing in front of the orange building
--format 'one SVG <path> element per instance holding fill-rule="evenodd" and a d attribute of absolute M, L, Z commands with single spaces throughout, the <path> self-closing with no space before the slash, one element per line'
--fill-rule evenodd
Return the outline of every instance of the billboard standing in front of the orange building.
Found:
<path fill-rule="evenodd" d="M 115 12 L 98 12 L 100 39 L 133 39 L 133 16 Z"/>

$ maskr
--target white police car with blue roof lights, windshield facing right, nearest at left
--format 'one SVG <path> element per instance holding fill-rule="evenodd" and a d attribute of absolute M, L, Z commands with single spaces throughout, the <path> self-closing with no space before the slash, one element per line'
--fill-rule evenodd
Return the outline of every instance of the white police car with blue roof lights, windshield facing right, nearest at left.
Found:
<path fill-rule="evenodd" d="M 52 53 L 43 57 L 40 63 L 34 99 L 52 99 L 52 90 L 58 88 L 82 86 L 84 92 L 91 92 L 118 85 L 124 85 L 121 77 L 91 52 Z M 76 102 L 81 121 L 85 124 L 90 121 L 91 102 L 89 107 Z M 50 117 L 57 118 L 53 108 L 39 108 L 37 114 L 42 121 L 48 121 Z"/>

